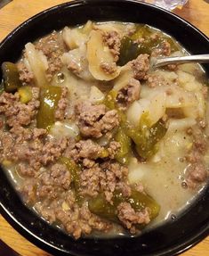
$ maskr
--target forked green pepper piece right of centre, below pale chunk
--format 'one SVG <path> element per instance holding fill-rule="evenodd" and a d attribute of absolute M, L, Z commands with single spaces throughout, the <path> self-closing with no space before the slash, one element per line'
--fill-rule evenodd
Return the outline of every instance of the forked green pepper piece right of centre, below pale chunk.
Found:
<path fill-rule="evenodd" d="M 147 159 L 157 152 L 157 142 L 165 136 L 166 130 L 167 128 L 161 120 L 150 127 L 148 113 L 146 112 L 141 115 L 138 127 L 127 129 L 127 135 L 133 139 L 137 153 L 142 158 Z"/>

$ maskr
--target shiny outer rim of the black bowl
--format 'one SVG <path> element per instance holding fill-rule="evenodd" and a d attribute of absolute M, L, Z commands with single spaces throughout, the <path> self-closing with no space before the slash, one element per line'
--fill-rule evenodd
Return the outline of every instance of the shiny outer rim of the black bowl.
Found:
<path fill-rule="evenodd" d="M 201 37 L 204 37 L 209 43 L 209 38 L 200 29 L 197 29 L 189 21 L 186 21 L 185 19 L 181 18 L 178 14 L 169 12 L 169 11 L 165 10 L 164 8 L 161 8 L 154 4 L 149 4 L 149 3 L 141 2 L 138 0 L 73 0 L 73 1 L 70 1 L 67 3 L 63 3 L 63 4 L 56 4 L 50 8 L 45 9 L 42 12 L 36 13 L 32 17 L 28 18 L 28 20 L 20 23 L 20 25 L 17 28 L 13 29 L 12 32 L 10 32 L 0 42 L 0 51 L 2 50 L 4 45 L 7 44 L 7 41 L 10 40 L 11 37 L 13 37 L 14 34 L 18 33 L 20 30 L 26 28 L 28 26 L 28 23 L 30 23 L 31 21 L 37 20 L 39 17 L 44 16 L 44 14 L 46 14 L 48 12 L 57 12 L 59 9 L 62 9 L 62 8 L 66 8 L 66 7 L 73 8 L 73 7 L 76 7 L 79 5 L 86 5 L 86 6 L 93 5 L 93 4 L 101 4 L 102 5 L 102 4 L 107 4 L 107 2 L 109 2 L 109 3 L 111 2 L 111 4 L 127 2 L 127 3 L 139 4 L 139 6 L 140 6 L 140 4 L 148 5 L 150 8 L 160 10 L 160 12 L 166 12 L 168 15 L 173 16 L 174 19 L 181 21 L 181 23 L 184 23 L 186 26 L 189 26 L 193 30 L 196 30 L 197 33 Z M 28 239 L 28 241 L 30 241 L 31 243 L 36 244 L 36 246 L 42 248 L 46 252 L 55 253 L 55 252 L 60 251 L 60 252 L 66 253 L 66 251 L 64 249 L 60 249 L 58 246 L 48 243 L 47 241 L 42 239 L 40 236 L 37 236 L 36 234 L 31 232 L 28 229 L 28 227 L 25 227 L 24 225 L 22 225 L 20 223 L 20 221 L 18 219 L 16 219 L 8 209 L 6 209 L 6 207 L 4 206 L 4 203 L 1 202 L 1 198 L 0 198 L 0 213 L 3 215 L 4 219 L 6 219 L 9 222 L 9 224 L 20 233 L 20 235 L 23 235 L 24 237 L 26 237 Z M 176 244 L 176 245 L 170 246 L 169 250 L 166 250 L 166 252 L 165 252 L 165 250 L 163 250 L 164 252 L 157 252 L 157 254 L 152 253 L 152 254 L 150 254 L 150 256 L 154 256 L 154 255 L 165 256 L 165 255 L 171 255 L 171 253 L 172 253 L 172 255 L 177 255 L 179 253 L 187 251 L 189 248 L 198 244 L 207 235 L 209 235 L 209 222 L 205 223 L 205 225 L 199 229 L 197 234 L 189 237 L 186 240 L 186 242 L 182 242 L 181 244 Z M 69 252 L 67 252 L 67 253 L 69 253 Z M 149 255 L 149 254 L 146 254 L 146 255 Z"/>

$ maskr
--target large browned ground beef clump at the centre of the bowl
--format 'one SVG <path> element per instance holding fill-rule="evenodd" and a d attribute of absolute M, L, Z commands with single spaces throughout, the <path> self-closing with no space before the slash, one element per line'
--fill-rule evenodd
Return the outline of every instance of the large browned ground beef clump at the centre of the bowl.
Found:
<path fill-rule="evenodd" d="M 76 115 L 80 132 L 86 137 L 100 137 L 119 124 L 117 111 L 107 111 L 104 104 L 79 103 L 76 105 Z"/>

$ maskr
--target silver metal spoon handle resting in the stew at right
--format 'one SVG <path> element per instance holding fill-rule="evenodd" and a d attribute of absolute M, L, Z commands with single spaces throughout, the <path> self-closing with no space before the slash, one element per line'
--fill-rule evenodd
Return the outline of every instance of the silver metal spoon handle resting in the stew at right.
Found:
<path fill-rule="evenodd" d="M 168 64 L 183 64 L 183 63 L 209 63 L 209 54 L 189 55 L 181 57 L 169 57 L 157 59 L 154 63 L 155 68 L 162 67 Z"/>

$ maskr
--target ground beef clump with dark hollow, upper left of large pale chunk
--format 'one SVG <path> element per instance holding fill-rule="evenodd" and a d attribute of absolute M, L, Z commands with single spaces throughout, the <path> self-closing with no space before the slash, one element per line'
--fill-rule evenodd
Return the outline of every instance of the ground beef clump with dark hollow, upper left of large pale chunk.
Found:
<path fill-rule="evenodd" d="M 120 108 L 126 109 L 131 103 L 139 100 L 141 93 L 141 83 L 135 78 L 131 78 L 129 84 L 119 90 L 117 103 Z"/>

